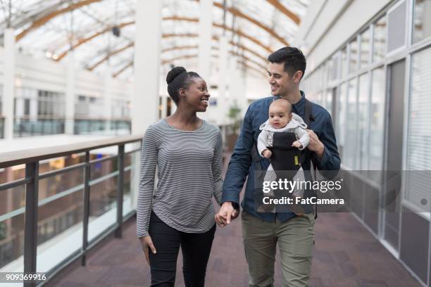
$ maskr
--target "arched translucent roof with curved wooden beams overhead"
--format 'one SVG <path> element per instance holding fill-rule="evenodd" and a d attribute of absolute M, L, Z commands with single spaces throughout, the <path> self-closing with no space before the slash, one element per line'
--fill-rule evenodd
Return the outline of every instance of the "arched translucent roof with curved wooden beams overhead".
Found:
<path fill-rule="evenodd" d="M 100 3 L 104 1 L 106 1 L 106 4 Z M 72 14 L 70 12 L 77 10 L 79 13 L 77 12 L 76 15 L 80 15 L 80 20 L 83 20 L 82 15 L 84 15 L 85 17 L 88 16 L 89 19 L 93 19 L 94 21 L 89 25 L 83 25 L 82 30 L 79 30 L 79 29 L 70 30 L 70 31 L 73 31 L 73 32 L 70 32 L 73 34 L 69 34 L 68 36 L 69 38 L 66 41 L 63 40 L 65 39 L 64 38 L 65 34 L 63 34 L 63 36 L 61 36 L 61 34 L 58 34 L 60 36 L 59 37 L 56 36 L 55 38 L 46 37 L 46 39 L 50 39 L 51 43 L 46 45 L 45 44 L 46 41 L 45 42 L 41 41 L 42 45 L 37 46 L 37 49 L 42 49 L 44 45 L 45 49 L 42 51 L 46 51 L 47 57 L 50 57 L 48 55 L 52 54 L 51 58 L 53 58 L 54 60 L 61 60 L 65 56 L 67 56 L 68 51 L 77 50 L 82 45 L 88 42 L 91 42 L 92 45 L 85 46 L 85 49 L 84 49 L 85 53 L 80 53 L 80 57 L 81 57 L 80 63 L 83 64 L 84 67 L 86 67 L 88 70 L 94 70 L 95 68 L 99 67 L 101 64 L 103 64 L 108 60 L 110 60 L 111 64 L 116 62 L 116 65 L 113 65 L 113 67 L 118 67 L 120 66 L 118 64 L 125 63 L 126 60 L 128 61 L 130 59 L 130 49 L 134 46 L 134 42 L 132 39 L 133 30 L 130 30 L 130 27 L 132 27 L 132 25 L 135 25 L 135 21 L 133 19 L 134 18 L 133 9 L 135 7 L 134 6 L 135 0 L 127 0 L 127 1 L 128 1 L 127 2 L 128 8 L 122 8 L 123 10 L 121 10 L 122 12 L 121 15 L 120 13 L 117 13 L 117 10 L 115 9 L 115 21 L 113 21 L 111 20 L 113 18 L 112 17 L 113 13 L 111 12 L 110 14 L 111 16 L 108 16 L 108 17 L 106 17 L 106 15 L 108 14 L 105 13 L 108 7 L 111 7 L 109 11 L 113 11 L 112 9 L 113 8 L 112 4 L 114 3 L 113 0 L 112 1 L 111 0 L 58 0 L 58 1 L 49 1 L 49 2 L 35 0 L 32 2 L 32 5 L 28 5 L 26 7 L 26 8 L 31 7 L 32 8 L 31 11 L 26 11 L 25 13 L 21 13 L 23 17 L 16 17 L 16 19 L 13 21 L 13 27 L 15 27 L 15 29 L 18 31 L 18 34 L 16 35 L 15 39 L 17 42 L 20 42 L 20 40 L 25 39 L 24 45 L 30 44 L 31 46 L 32 42 L 34 42 L 33 40 L 44 39 L 44 37 L 40 37 L 40 35 L 41 33 L 42 35 L 44 35 L 45 33 L 44 31 L 46 31 L 46 29 L 48 30 L 51 29 L 51 33 L 52 31 L 55 32 L 55 28 L 58 22 L 63 18 L 65 18 L 65 16 L 70 15 L 70 17 L 73 17 L 72 15 L 75 15 L 76 13 Z M 141 1 L 141 0 L 136 0 L 136 1 Z M 196 23 L 196 24 L 199 23 L 199 18 L 181 16 L 181 14 L 196 15 L 196 13 L 189 13 L 189 10 L 187 9 L 185 11 L 184 7 L 186 6 L 182 6 L 182 4 L 180 4 L 180 1 L 175 1 L 175 0 L 164 0 L 164 1 L 166 1 L 165 3 L 170 1 L 169 2 L 170 4 L 168 6 L 165 5 L 163 9 L 168 9 L 167 11 L 171 11 L 172 13 L 175 13 L 175 15 L 165 16 L 163 18 L 163 21 L 182 21 L 182 22 Z M 124 4 L 125 2 L 126 1 L 121 1 L 120 3 L 125 7 L 127 6 L 127 4 Z M 199 2 L 199 0 L 194 0 L 194 2 Z M 244 4 L 242 4 L 241 1 L 239 2 L 237 1 L 236 2 L 237 5 L 235 6 L 228 5 L 226 7 L 223 6 L 223 1 L 221 0 L 213 1 L 213 6 L 217 8 L 216 10 L 221 9 L 222 13 L 223 12 L 225 12 L 224 14 L 228 13 L 228 15 L 230 15 L 232 18 L 231 27 L 225 24 L 220 24 L 216 22 L 213 23 L 213 27 L 218 29 L 223 29 L 223 34 L 225 34 L 225 31 L 230 32 L 230 35 L 232 37 L 229 37 L 229 39 L 231 39 L 229 41 L 229 44 L 232 47 L 237 47 L 236 49 L 235 48 L 232 49 L 230 53 L 236 56 L 242 57 L 242 60 L 246 61 L 246 63 L 243 63 L 244 66 L 247 66 L 248 68 L 253 67 L 254 70 L 259 70 L 259 72 L 261 72 L 261 70 L 257 69 L 256 66 L 259 68 L 264 68 L 263 63 L 266 63 L 266 55 L 268 55 L 268 53 L 271 53 L 274 49 L 274 44 L 275 44 L 275 42 L 273 42 L 274 40 L 277 43 L 275 44 L 275 48 L 277 48 L 279 44 L 289 45 L 289 43 L 287 42 L 287 38 L 290 39 L 292 36 L 292 27 L 297 27 L 297 25 L 299 25 L 299 23 L 301 22 L 300 17 L 305 13 L 306 6 L 308 5 L 308 0 L 301 0 L 301 1 L 284 0 L 283 2 L 284 4 L 287 4 L 287 5 L 291 5 L 291 4 L 294 4 L 294 5 L 289 6 L 289 8 L 287 8 L 287 6 L 282 4 L 281 0 L 259 0 L 259 1 L 253 2 L 253 5 L 251 5 L 253 6 L 252 7 L 253 9 L 251 9 L 250 8 L 251 6 L 249 6 L 248 4 L 247 6 L 244 6 Z M 190 3 L 190 2 L 187 2 L 187 3 Z M 227 0 L 227 3 L 230 4 L 231 1 Z M 170 6 L 172 4 L 174 6 Z M 192 11 L 195 12 L 194 4 L 190 4 L 190 5 L 192 5 L 191 6 L 193 8 Z M 173 8 L 175 6 L 182 7 L 183 8 L 182 12 L 176 11 L 175 8 Z M 303 11 L 298 10 L 297 6 L 301 6 Z M 196 8 L 199 9 L 199 7 L 196 7 Z M 261 8 L 265 8 L 265 11 L 267 13 L 261 13 L 262 12 Z M 272 10 L 273 12 L 270 12 L 271 8 L 273 9 Z M 165 10 L 163 10 L 163 12 L 165 12 Z M 214 14 L 214 15 L 217 15 L 215 17 L 215 20 L 216 21 L 217 19 L 220 20 L 220 15 L 221 15 L 220 10 L 215 12 L 217 12 Z M 278 23 L 275 20 L 273 20 L 272 23 L 270 21 L 268 22 L 268 20 L 273 19 L 273 17 L 270 17 L 270 15 L 274 15 L 274 14 L 268 14 L 268 13 L 279 13 L 279 15 L 284 15 L 285 18 L 282 19 L 284 22 Z M 177 14 L 180 14 L 180 15 L 177 15 Z M 60 18 L 60 20 L 58 19 L 54 20 L 55 18 L 58 18 L 58 16 L 60 15 L 63 15 L 63 18 Z M 235 21 L 235 18 L 242 19 L 242 22 L 239 22 L 239 25 L 238 25 L 237 24 L 238 22 Z M 261 18 L 261 21 L 259 21 L 259 18 Z M 6 19 L 6 17 L 4 19 Z M 274 19 L 280 19 L 280 18 L 276 17 Z M 121 20 L 123 20 L 123 23 L 121 23 Z M 225 17 L 223 17 L 223 22 L 226 23 Z M 53 24 L 51 26 L 46 26 L 46 24 L 48 23 L 53 23 Z M 115 25 L 113 23 L 115 23 Z M 241 23 L 243 23 L 244 25 Z M 75 26 L 71 26 L 71 27 L 75 27 Z M 99 39 L 99 37 L 101 37 L 102 35 L 108 35 L 107 32 L 113 31 L 113 27 L 125 28 L 124 37 L 123 37 L 123 30 L 121 30 L 122 31 L 121 37 L 123 37 L 125 41 L 123 41 L 123 39 L 118 39 L 118 41 L 116 40 L 116 42 L 113 45 L 108 44 L 108 46 L 105 46 L 104 48 L 104 46 L 101 45 L 101 43 L 104 41 L 104 39 L 108 39 L 108 37 L 102 38 L 102 39 Z M 185 27 L 185 26 L 181 26 L 181 27 Z M 185 27 L 184 30 L 189 31 L 185 33 L 178 31 L 178 29 L 174 29 L 173 31 L 175 32 L 164 33 L 162 36 L 162 39 L 168 39 L 173 37 L 187 37 L 187 38 L 198 37 L 198 34 L 196 32 L 193 32 L 195 30 L 195 27 L 196 26 L 193 26 L 193 29 L 191 30 Z M 281 30 L 280 30 L 280 27 L 281 27 Z M 40 28 L 43 28 L 43 29 L 38 30 Z M 283 36 L 281 34 L 278 34 L 276 30 L 281 32 Z M 31 39 L 31 38 L 27 39 L 26 37 L 29 34 L 31 34 L 31 32 L 33 31 L 37 31 L 36 35 L 39 35 L 39 37 L 33 36 L 33 38 L 35 39 Z M 98 31 L 98 32 L 92 32 L 92 31 Z M 167 32 L 168 30 L 164 30 L 164 31 Z M 219 33 L 219 35 L 220 34 L 221 33 Z M 77 35 L 82 35 L 82 36 L 80 37 Z M 94 39 L 97 39 L 97 40 L 95 40 L 95 42 L 94 41 L 92 42 L 92 40 Z M 218 41 L 218 36 L 214 36 L 213 39 Z M 124 45 L 124 43 L 127 43 L 127 44 Z M 123 46 L 120 46 L 120 45 L 123 45 Z M 187 50 L 192 50 L 197 48 L 196 44 L 194 42 L 190 42 L 189 40 L 187 41 L 181 40 L 179 43 L 177 40 L 175 40 L 172 42 L 171 45 L 172 46 L 165 46 L 165 49 L 162 50 L 162 53 L 169 53 L 170 51 L 177 51 L 177 50 L 187 51 Z M 112 47 L 115 47 L 115 49 L 113 49 Z M 95 50 L 94 48 L 98 49 L 99 51 L 97 51 L 97 53 L 94 53 L 94 50 Z M 81 50 L 82 49 L 80 49 L 80 51 Z M 245 55 L 244 55 L 244 52 L 246 52 Z M 174 53 L 173 55 L 175 54 L 177 55 L 177 53 Z M 113 58 L 113 56 L 115 56 L 115 59 Z M 112 62 L 111 59 L 114 59 L 114 61 Z M 249 63 L 253 63 L 253 65 L 252 66 L 249 65 Z M 115 77 L 117 75 L 120 75 L 122 72 L 124 72 L 125 70 L 127 70 L 127 68 L 130 68 L 130 67 L 132 67 L 132 64 L 127 63 L 125 67 L 118 70 L 118 72 L 115 72 L 114 74 Z"/>

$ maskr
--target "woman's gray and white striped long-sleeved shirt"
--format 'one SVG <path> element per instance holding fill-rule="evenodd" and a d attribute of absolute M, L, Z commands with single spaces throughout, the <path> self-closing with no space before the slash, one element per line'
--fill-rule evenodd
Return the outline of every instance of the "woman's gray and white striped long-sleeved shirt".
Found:
<path fill-rule="evenodd" d="M 214 196 L 220 203 L 222 137 L 204 121 L 185 132 L 160 120 L 146 129 L 142 140 L 137 198 L 137 237 L 147 236 L 151 210 L 168 226 L 204 233 L 214 225 Z M 154 176 L 158 182 L 154 189 Z"/>

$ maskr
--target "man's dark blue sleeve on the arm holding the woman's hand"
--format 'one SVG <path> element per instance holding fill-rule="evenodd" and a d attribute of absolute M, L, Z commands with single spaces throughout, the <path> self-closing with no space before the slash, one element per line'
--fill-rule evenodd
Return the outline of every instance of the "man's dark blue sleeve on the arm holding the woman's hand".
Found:
<path fill-rule="evenodd" d="M 232 158 L 230 158 L 229 166 L 223 184 L 222 203 L 231 201 L 239 204 L 239 193 L 249 174 L 251 165 L 251 148 L 254 144 L 254 132 L 252 123 L 251 107 L 246 111 L 241 132 L 239 133 L 237 144 L 235 144 Z"/>

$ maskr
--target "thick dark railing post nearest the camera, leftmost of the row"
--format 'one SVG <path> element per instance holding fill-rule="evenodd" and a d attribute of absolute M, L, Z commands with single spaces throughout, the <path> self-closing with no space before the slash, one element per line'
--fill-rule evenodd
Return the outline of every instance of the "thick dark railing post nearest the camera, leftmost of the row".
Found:
<path fill-rule="evenodd" d="M 24 234 L 24 272 L 35 273 L 37 262 L 37 200 L 39 198 L 39 162 L 25 165 L 25 177 L 32 179 L 25 184 L 25 234 Z M 35 286 L 26 282 L 25 287 Z"/>

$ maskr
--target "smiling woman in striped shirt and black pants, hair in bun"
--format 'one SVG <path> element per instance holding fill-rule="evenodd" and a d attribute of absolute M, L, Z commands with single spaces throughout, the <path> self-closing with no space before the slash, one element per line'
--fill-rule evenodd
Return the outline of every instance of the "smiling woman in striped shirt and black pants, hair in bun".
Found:
<path fill-rule="evenodd" d="M 177 110 L 151 125 L 142 141 L 137 236 L 151 286 L 174 286 L 180 247 L 185 285 L 204 286 L 215 233 L 211 199 L 220 204 L 223 185 L 222 137 L 218 127 L 196 116 L 208 107 L 204 79 L 176 67 L 166 82 Z"/>

